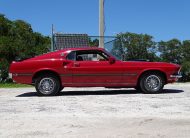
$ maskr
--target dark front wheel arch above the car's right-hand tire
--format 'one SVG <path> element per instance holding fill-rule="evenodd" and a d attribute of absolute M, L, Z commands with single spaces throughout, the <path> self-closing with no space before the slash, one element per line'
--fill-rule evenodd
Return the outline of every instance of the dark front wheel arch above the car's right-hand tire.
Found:
<path fill-rule="evenodd" d="M 160 74 L 164 78 L 165 84 L 167 83 L 167 75 L 166 75 L 166 73 L 164 71 L 159 70 L 159 69 L 150 69 L 150 70 L 145 70 L 145 71 L 140 73 L 140 75 L 138 76 L 138 79 L 137 79 L 137 86 L 139 86 L 140 79 L 142 78 L 142 76 L 145 75 L 145 74 L 148 74 L 148 73 L 158 73 L 158 74 Z"/>

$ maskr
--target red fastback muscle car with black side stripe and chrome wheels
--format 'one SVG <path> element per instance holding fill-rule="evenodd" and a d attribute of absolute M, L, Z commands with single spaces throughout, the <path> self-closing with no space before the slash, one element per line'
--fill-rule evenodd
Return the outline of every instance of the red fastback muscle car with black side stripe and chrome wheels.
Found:
<path fill-rule="evenodd" d="M 163 62 L 120 61 L 102 48 L 69 48 L 10 66 L 17 83 L 35 85 L 39 96 L 57 95 L 64 87 L 135 88 L 159 93 L 177 81 L 180 66 Z"/>

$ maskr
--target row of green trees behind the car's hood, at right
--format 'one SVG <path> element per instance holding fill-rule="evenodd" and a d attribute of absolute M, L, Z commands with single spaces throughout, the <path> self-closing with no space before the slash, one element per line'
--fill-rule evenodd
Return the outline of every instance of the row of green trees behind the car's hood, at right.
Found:
<path fill-rule="evenodd" d="M 151 35 L 126 32 L 117 35 L 112 53 L 118 57 L 124 53 L 126 61 L 145 59 L 179 64 L 183 76 L 180 81 L 190 81 L 190 40 L 155 42 Z"/>

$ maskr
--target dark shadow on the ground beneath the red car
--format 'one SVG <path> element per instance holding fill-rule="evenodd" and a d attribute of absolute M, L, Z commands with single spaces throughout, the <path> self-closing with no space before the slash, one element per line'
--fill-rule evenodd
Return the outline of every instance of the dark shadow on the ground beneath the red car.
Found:
<path fill-rule="evenodd" d="M 164 89 L 159 94 L 172 94 L 172 93 L 182 93 L 183 90 L 176 89 Z M 86 95 L 121 95 L 121 94 L 142 94 L 137 90 L 97 90 L 97 91 L 62 91 L 58 96 L 86 96 Z M 27 92 L 16 97 L 36 97 L 36 92 Z"/>

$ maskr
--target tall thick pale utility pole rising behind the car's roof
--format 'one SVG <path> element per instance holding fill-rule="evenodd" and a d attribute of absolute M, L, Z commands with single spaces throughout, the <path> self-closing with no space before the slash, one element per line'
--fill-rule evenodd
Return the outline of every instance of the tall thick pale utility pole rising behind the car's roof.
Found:
<path fill-rule="evenodd" d="M 99 47 L 104 48 L 104 0 L 99 0 Z"/>

